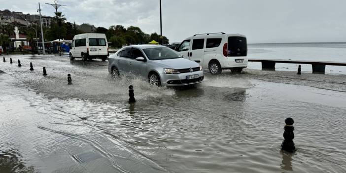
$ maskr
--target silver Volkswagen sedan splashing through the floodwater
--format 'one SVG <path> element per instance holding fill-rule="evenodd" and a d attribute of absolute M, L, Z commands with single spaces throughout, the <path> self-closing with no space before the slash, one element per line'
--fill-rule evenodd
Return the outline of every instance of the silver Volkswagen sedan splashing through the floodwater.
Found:
<path fill-rule="evenodd" d="M 123 47 L 109 56 L 108 71 L 112 76 L 131 73 L 156 86 L 191 85 L 204 79 L 198 63 L 160 45 Z"/>

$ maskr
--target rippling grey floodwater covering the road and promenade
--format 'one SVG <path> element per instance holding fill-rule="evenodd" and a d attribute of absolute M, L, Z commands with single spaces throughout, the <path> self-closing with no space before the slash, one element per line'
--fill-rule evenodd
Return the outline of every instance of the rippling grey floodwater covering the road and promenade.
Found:
<path fill-rule="evenodd" d="M 346 172 L 345 75 L 246 69 L 157 88 L 112 79 L 107 61 L 6 60 L 0 173 Z M 295 120 L 293 154 L 280 151 L 287 117 Z"/>

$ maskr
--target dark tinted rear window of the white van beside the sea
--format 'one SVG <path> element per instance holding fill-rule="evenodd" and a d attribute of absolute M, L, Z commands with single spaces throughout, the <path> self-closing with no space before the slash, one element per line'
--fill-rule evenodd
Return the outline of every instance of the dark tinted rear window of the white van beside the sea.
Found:
<path fill-rule="evenodd" d="M 228 57 L 243 57 L 247 55 L 246 38 L 242 36 L 228 37 Z"/>

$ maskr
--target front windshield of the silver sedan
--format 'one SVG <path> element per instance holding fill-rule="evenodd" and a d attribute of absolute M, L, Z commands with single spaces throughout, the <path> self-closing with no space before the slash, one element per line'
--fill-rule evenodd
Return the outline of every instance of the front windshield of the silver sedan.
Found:
<path fill-rule="evenodd" d="M 177 53 L 168 47 L 154 47 L 143 49 L 145 55 L 149 60 L 166 60 L 173 58 L 180 58 Z"/>

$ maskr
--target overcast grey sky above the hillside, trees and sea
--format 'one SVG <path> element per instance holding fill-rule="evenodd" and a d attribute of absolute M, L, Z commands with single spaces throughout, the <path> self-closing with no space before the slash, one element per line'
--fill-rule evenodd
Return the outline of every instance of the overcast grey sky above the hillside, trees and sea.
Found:
<path fill-rule="evenodd" d="M 0 9 L 53 16 L 53 0 L 0 0 Z M 160 34 L 159 0 L 59 0 L 69 22 L 138 26 Z M 346 0 L 162 0 L 170 42 L 198 33 L 239 33 L 248 43 L 346 41 Z"/>

